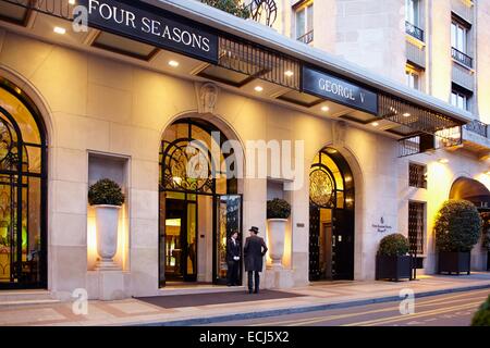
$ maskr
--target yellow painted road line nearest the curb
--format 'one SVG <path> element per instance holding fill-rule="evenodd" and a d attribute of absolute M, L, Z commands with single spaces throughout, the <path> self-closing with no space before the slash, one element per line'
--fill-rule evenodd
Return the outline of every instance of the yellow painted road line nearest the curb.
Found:
<path fill-rule="evenodd" d="M 479 295 L 480 293 L 488 294 L 489 290 L 483 289 L 483 290 L 471 291 L 470 295 Z M 466 298 L 457 299 L 460 297 L 466 297 Z M 453 302 L 465 301 L 465 300 L 468 300 L 467 297 L 468 297 L 468 294 L 458 294 L 458 295 L 446 296 L 446 297 L 432 299 L 432 300 L 425 300 L 422 303 L 416 303 L 415 308 L 418 309 L 418 308 L 425 308 L 425 307 L 430 307 L 430 306 L 437 306 L 438 302 L 446 302 L 448 300 L 451 300 L 451 299 L 456 299 Z M 416 300 L 417 300 L 417 298 L 416 298 Z M 481 301 L 483 301 L 483 300 L 485 300 L 485 298 L 481 298 Z M 378 304 L 378 303 L 372 303 L 372 304 Z M 368 304 L 368 306 L 371 306 L 371 304 Z M 369 310 L 369 311 L 359 312 L 359 313 L 347 313 L 347 314 L 338 314 L 338 315 L 330 315 L 330 316 L 315 316 L 315 318 L 305 318 L 305 319 L 299 319 L 299 320 L 295 319 L 295 320 L 286 320 L 286 321 L 279 321 L 279 322 L 267 322 L 267 323 L 249 324 L 248 326 L 281 326 L 281 325 L 301 326 L 301 325 L 305 325 L 305 324 L 315 324 L 317 322 L 323 322 L 323 321 L 328 322 L 328 321 L 333 321 L 333 320 L 339 320 L 339 319 L 346 319 L 346 318 L 351 318 L 351 316 L 391 312 L 391 311 L 397 311 L 397 310 L 399 310 L 399 306 L 395 306 L 395 307 Z"/>

